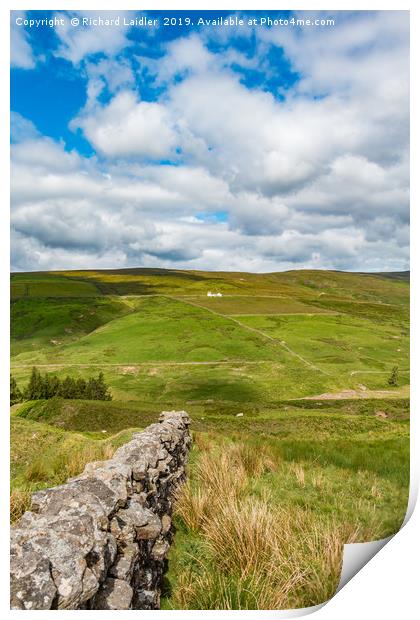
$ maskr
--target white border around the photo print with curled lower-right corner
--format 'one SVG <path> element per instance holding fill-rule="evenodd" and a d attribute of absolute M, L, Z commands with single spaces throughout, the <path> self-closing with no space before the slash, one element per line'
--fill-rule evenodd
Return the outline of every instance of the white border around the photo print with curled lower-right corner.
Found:
<path fill-rule="evenodd" d="M 0 131 L 2 136 L 2 149 L 1 149 L 1 172 L 2 172 L 2 201 L 0 207 L 0 283 L 2 293 L 2 304 L 0 306 L 0 342 L 2 343 L 2 369 L 0 374 L 0 386 L 1 386 L 1 438 L 2 445 L 0 450 L 0 472 L 1 472 L 1 491 L 2 491 L 2 510 L 0 511 L 0 527 L 1 527 L 1 576 L 0 576 L 0 602 L 1 609 L 6 616 L 15 615 L 25 612 L 10 611 L 9 610 L 9 566 L 8 566 L 8 472 L 9 471 L 9 441 L 8 441 L 8 370 L 9 370 L 9 312 L 8 312 L 8 291 L 9 291 L 9 10 L 28 10 L 28 9 L 55 9 L 55 10 L 68 10 L 68 9 L 90 9 L 90 10 L 121 10 L 124 9 L 171 9 L 171 10 L 208 10 L 208 9 L 259 9 L 259 10 L 280 10 L 280 9 L 306 9 L 306 10 L 410 10 L 411 12 L 411 73 L 412 73 L 412 96 L 411 96 L 411 121 L 412 121 L 412 136 L 420 136 L 420 128 L 418 121 L 418 110 L 420 109 L 420 101 L 418 96 L 418 79 L 416 74 L 419 73 L 418 62 L 414 63 L 415 59 L 420 58 L 420 44 L 419 32 L 419 12 L 417 3 L 415 1 L 400 0 L 399 2 L 391 2 L 387 0 L 370 0 L 368 3 L 363 0 L 354 0 L 353 2 L 332 2 L 332 1 L 319 1 L 314 2 L 312 0 L 289 0 L 287 3 L 273 2 L 273 0 L 265 0 L 262 6 L 259 6 L 259 2 L 256 0 L 230 0 L 228 2 L 221 0 L 201 0 L 199 3 L 179 0 L 177 3 L 169 0 L 160 0 L 158 2 L 152 0 L 143 0 L 141 3 L 134 0 L 125 0 L 123 6 L 118 6 L 116 2 L 97 0 L 61 0 L 61 2 L 43 2 L 39 3 L 34 0 L 26 0 L 26 2 L 18 2 L 13 0 L 6 0 L 5 6 L 0 8 L 0 44 L 2 46 L 1 53 L 1 84 L 2 93 L 1 98 L 1 123 Z M 414 66 L 413 66 L 414 65 Z M 417 111 L 417 113 L 416 113 Z M 418 177 L 419 177 L 419 161 L 418 155 L 414 149 L 412 149 L 411 159 L 411 181 L 412 181 L 412 202 L 411 209 L 411 237 L 412 237 L 412 253 L 411 253 L 411 273 L 412 273 L 412 316 L 414 316 L 415 309 L 420 308 L 419 295 L 420 287 L 417 277 L 418 268 L 418 242 L 416 233 L 419 230 L 419 215 L 416 211 L 416 204 L 418 202 Z M 412 375 L 413 377 L 419 376 L 419 364 L 418 364 L 418 327 L 416 322 L 411 324 L 411 343 L 412 343 Z M 411 619 L 417 616 L 418 604 L 417 604 L 417 590 L 418 590 L 418 573 L 419 563 L 417 553 L 420 549 L 420 511 L 414 511 L 414 514 L 409 518 L 409 513 L 413 511 L 415 499 L 418 492 L 419 485 L 419 471 L 420 471 L 420 450 L 419 450 L 419 421 L 418 421 L 418 408 L 419 404 L 419 389 L 414 384 L 412 386 L 412 422 L 411 422 L 411 496 L 410 496 L 410 508 L 406 518 L 406 525 L 402 531 L 400 531 L 386 546 L 378 553 L 355 577 L 353 577 L 349 584 L 346 585 L 338 594 L 336 594 L 330 602 L 317 611 L 317 618 L 319 620 L 354 620 L 355 614 L 362 615 L 362 617 L 380 617 L 383 619 L 394 620 L 396 616 L 401 620 Z M 309 611 L 309 610 L 308 610 Z M 42 614 L 45 617 L 44 612 L 32 612 L 34 614 Z M 56 611 L 56 614 L 61 615 L 64 612 Z M 83 611 L 67 611 L 68 614 L 80 614 L 80 613 L 92 613 Z M 103 612 L 96 612 L 103 613 Z M 119 617 L 132 617 L 129 614 L 132 612 L 117 612 Z M 288 612 L 270 612 L 270 611 L 258 611 L 258 612 L 222 612 L 222 611 L 158 611 L 158 612 L 140 612 L 143 617 L 149 614 L 153 614 L 153 617 L 161 614 L 172 614 L 173 617 L 181 617 L 181 614 L 196 614 L 200 616 L 208 614 L 246 614 L 248 616 L 255 614 L 265 614 L 266 616 L 275 617 L 291 617 L 295 615 Z"/>

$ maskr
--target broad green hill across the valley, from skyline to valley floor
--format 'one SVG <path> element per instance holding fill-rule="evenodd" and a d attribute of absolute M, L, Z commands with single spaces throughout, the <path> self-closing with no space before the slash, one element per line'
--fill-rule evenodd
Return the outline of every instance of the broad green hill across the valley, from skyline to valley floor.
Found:
<path fill-rule="evenodd" d="M 84 286 L 91 297 L 80 296 Z M 360 384 L 387 389 L 393 366 L 400 386 L 408 381 L 409 286 L 382 275 L 12 274 L 13 292 L 19 382 L 34 364 L 74 376 L 100 367 L 122 400 L 261 404 Z"/>

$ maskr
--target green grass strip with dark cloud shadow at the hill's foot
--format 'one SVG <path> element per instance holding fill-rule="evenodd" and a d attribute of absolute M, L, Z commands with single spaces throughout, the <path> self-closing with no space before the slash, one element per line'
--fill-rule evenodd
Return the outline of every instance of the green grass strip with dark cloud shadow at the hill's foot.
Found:
<path fill-rule="evenodd" d="M 12 366 L 13 376 L 21 388 L 29 379 L 33 363 L 34 359 L 30 358 L 24 367 Z M 171 365 L 152 362 L 134 366 L 108 366 L 98 363 L 82 367 L 69 364 L 39 368 L 43 372 L 57 374 L 60 378 L 67 374 L 74 378 L 88 377 L 103 370 L 114 401 L 142 401 L 155 403 L 157 407 L 186 409 L 211 401 L 219 409 L 233 407 L 236 413 L 248 405 L 254 408 L 275 406 L 288 397 L 298 398 L 334 391 L 349 382 L 349 378 L 340 382 L 335 377 L 314 372 L 294 358 L 283 363 Z M 386 375 L 381 376 L 384 387 L 387 387 Z M 359 378 L 355 378 L 352 384 L 356 385 L 358 382 Z M 369 382 L 367 385 L 370 385 Z"/>

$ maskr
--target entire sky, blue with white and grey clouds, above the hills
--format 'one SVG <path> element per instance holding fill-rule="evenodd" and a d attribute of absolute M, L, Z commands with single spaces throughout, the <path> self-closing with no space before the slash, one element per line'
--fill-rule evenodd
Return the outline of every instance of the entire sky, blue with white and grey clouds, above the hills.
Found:
<path fill-rule="evenodd" d="M 13 271 L 408 269 L 409 13 L 12 11 L 11 163 Z"/>

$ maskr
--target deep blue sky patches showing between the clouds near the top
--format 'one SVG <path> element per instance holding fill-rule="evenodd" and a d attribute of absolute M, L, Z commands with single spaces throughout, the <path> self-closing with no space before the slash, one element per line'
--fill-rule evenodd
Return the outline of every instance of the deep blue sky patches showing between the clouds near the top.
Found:
<path fill-rule="evenodd" d="M 54 11 L 28 11 L 27 19 L 51 19 Z M 217 19 L 229 16 L 229 11 L 206 11 L 206 19 Z M 258 12 L 247 12 L 251 17 Z M 268 11 L 267 15 L 273 18 L 287 18 L 290 11 Z M 67 13 L 67 15 L 70 15 Z M 141 14 L 139 14 L 141 15 Z M 176 16 L 177 19 L 189 17 L 196 23 L 198 17 L 203 15 L 201 11 L 148 11 L 150 17 Z M 25 36 L 30 43 L 34 54 L 43 56 L 43 62 L 37 63 L 33 70 L 12 67 L 11 71 L 11 109 L 25 118 L 30 119 L 44 135 L 55 140 L 64 140 L 68 150 L 77 149 L 78 152 L 88 155 L 94 153 L 89 143 L 84 140 L 81 132 L 70 131 L 68 125 L 72 118 L 86 104 L 87 77 L 80 66 L 74 66 L 66 58 L 57 57 L 60 48 L 60 38 L 52 28 L 25 28 Z M 200 26 L 191 27 L 188 33 L 200 32 Z M 127 32 L 128 46 L 122 49 L 118 57 L 126 59 L 137 68 L 135 74 L 135 86 L 144 101 L 157 101 L 164 94 L 163 86 L 156 87 L 154 75 L 150 70 L 141 68 L 141 63 L 136 61 L 137 55 L 159 59 L 164 57 L 168 42 L 186 36 L 183 26 L 164 27 L 151 30 L 145 40 L 144 32 L 139 28 L 131 28 Z M 237 50 L 246 58 L 253 59 L 257 55 L 255 36 L 241 36 L 236 29 L 227 41 L 220 41 L 218 37 L 210 37 L 207 47 L 215 53 L 226 49 Z M 92 63 L 99 63 L 106 59 L 107 55 L 98 51 L 90 56 Z M 283 99 L 279 94 L 280 89 L 287 89 L 299 79 L 298 73 L 294 72 L 290 62 L 276 46 L 270 46 L 267 50 L 266 61 L 271 70 L 268 76 L 266 71 L 258 68 L 247 68 L 239 63 L 232 63 L 231 69 L 247 88 L 262 88 L 273 94 L 276 98 Z M 30 93 L 30 97 L 28 97 Z M 113 93 L 105 88 L 101 93 L 100 101 L 107 103 Z"/>

